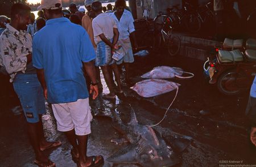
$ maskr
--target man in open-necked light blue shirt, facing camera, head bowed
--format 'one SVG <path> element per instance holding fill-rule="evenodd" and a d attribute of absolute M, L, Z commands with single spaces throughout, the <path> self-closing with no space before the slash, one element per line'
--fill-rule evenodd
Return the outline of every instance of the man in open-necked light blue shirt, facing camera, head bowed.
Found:
<path fill-rule="evenodd" d="M 109 15 L 115 19 L 115 23 L 117 23 L 118 25 L 118 31 L 119 31 L 118 42 L 119 44 L 122 45 L 122 48 L 125 50 L 125 55 L 123 59 L 118 61 L 117 65 L 121 65 L 121 63 L 124 62 L 125 73 L 126 73 L 125 75 L 126 83 L 130 84 L 129 65 L 130 63 L 134 62 L 133 48 L 131 46 L 130 36 L 131 36 L 131 39 L 133 40 L 135 50 L 137 50 L 138 48 L 137 41 L 135 39 L 135 28 L 133 24 L 134 19 L 131 13 L 125 10 L 125 7 L 126 7 L 125 0 L 116 0 L 115 7 L 117 8 L 117 10 Z"/>

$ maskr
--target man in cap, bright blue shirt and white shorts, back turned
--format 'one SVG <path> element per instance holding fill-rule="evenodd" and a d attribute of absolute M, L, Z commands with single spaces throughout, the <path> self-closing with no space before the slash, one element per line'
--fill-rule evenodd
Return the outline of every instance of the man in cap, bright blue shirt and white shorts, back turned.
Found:
<path fill-rule="evenodd" d="M 61 0 L 42 0 L 39 6 L 47 22 L 33 39 L 33 66 L 44 96 L 52 104 L 57 129 L 65 133 L 73 146 L 73 160 L 77 166 L 98 165 L 104 162 L 102 156 L 86 156 L 92 114 L 82 71 L 84 67 L 92 80 L 90 93 L 96 99 L 96 55 L 84 28 L 64 18 L 61 7 Z"/>

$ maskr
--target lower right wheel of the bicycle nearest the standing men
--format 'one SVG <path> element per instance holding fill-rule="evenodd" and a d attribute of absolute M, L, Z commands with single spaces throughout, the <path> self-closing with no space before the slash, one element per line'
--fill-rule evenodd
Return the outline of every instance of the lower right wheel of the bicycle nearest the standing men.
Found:
<path fill-rule="evenodd" d="M 177 36 L 171 36 L 167 42 L 168 52 L 171 56 L 174 56 L 180 51 L 180 38 Z"/>

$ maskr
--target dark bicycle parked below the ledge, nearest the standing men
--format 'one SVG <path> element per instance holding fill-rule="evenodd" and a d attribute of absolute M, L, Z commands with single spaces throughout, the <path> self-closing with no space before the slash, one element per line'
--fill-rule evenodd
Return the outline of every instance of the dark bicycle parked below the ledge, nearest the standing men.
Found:
<path fill-rule="evenodd" d="M 179 53 L 180 50 L 180 38 L 174 36 L 172 31 L 172 19 L 170 16 L 163 15 L 162 12 L 154 18 L 154 47 L 155 49 L 159 49 L 162 42 L 164 42 L 164 46 L 167 46 L 168 53 L 171 56 Z"/>

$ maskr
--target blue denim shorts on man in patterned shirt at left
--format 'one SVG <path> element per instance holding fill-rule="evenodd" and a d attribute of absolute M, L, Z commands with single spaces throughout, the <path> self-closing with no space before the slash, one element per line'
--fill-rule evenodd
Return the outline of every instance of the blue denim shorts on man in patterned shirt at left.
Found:
<path fill-rule="evenodd" d="M 43 88 L 36 74 L 17 74 L 13 82 L 27 122 L 39 122 L 39 114 L 46 113 Z"/>

